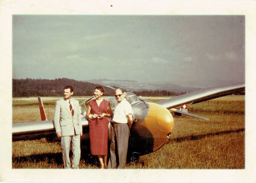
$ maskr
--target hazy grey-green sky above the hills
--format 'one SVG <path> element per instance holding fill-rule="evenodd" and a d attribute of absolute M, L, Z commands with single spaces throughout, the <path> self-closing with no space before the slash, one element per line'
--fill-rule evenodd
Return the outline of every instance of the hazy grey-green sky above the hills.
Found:
<path fill-rule="evenodd" d="M 12 77 L 245 82 L 245 16 L 13 15 Z"/>

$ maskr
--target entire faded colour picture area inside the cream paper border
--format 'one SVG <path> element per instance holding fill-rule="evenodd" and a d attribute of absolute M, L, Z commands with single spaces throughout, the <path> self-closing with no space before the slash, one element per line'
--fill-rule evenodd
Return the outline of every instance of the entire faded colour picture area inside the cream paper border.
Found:
<path fill-rule="evenodd" d="M 10 16 L 10 172 L 246 170 L 245 14 Z"/>

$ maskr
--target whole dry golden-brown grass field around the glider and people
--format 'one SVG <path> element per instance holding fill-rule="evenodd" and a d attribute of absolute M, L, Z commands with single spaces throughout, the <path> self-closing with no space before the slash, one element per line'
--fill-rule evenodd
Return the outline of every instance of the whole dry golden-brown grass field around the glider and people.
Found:
<path fill-rule="evenodd" d="M 75 97 L 74 97 L 75 98 Z M 82 102 L 87 97 L 76 99 Z M 144 97 L 158 101 L 161 97 Z M 164 97 L 165 98 L 165 97 Z M 58 98 L 43 97 L 48 119 L 53 118 Z M 126 168 L 245 168 L 245 97 L 226 96 L 189 105 L 189 112 L 209 121 L 174 116 L 169 142 L 151 154 L 130 162 Z M 41 120 L 37 98 L 13 98 L 13 123 Z M 82 144 L 80 168 L 98 168 L 98 160 Z M 62 168 L 59 142 L 46 139 L 12 143 L 13 168 Z"/>

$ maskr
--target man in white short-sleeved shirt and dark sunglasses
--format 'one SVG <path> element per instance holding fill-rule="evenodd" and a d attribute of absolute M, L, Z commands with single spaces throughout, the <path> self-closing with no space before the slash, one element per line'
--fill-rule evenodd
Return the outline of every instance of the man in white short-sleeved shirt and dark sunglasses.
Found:
<path fill-rule="evenodd" d="M 110 159 L 108 168 L 125 168 L 128 151 L 128 140 L 130 128 L 133 123 L 133 110 L 131 104 L 125 99 L 123 89 L 115 89 L 115 97 L 118 105 L 113 115 L 113 126 L 111 126 Z M 117 149 L 118 166 L 115 151 Z"/>

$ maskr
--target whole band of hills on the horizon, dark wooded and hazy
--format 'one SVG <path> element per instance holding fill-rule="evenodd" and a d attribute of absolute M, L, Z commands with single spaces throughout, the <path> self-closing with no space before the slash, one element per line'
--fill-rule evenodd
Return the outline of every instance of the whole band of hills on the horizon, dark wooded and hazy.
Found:
<path fill-rule="evenodd" d="M 197 82 L 197 81 L 195 81 Z M 237 82 L 213 80 L 205 82 L 202 88 L 208 84 L 208 87 L 222 86 L 226 84 L 235 84 Z M 181 85 L 179 85 L 181 84 Z M 113 96 L 113 90 L 105 87 L 121 87 L 126 91 L 132 91 L 138 96 L 175 96 L 187 92 L 199 90 L 200 87 L 194 87 L 193 82 L 190 85 L 182 86 L 185 82 L 179 84 L 174 83 L 139 83 L 133 80 L 110 80 L 110 79 L 94 79 L 89 81 L 76 81 L 74 79 L 58 78 L 58 79 L 13 79 L 12 95 L 13 97 L 31 97 L 31 96 L 62 96 L 63 87 L 71 85 L 74 87 L 74 96 L 92 96 L 96 86 L 103 86 L 105 96 Z M 189 84 L 189 83 L 187 83 Z"/>

